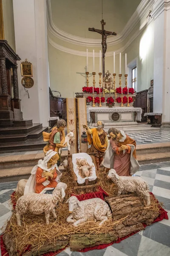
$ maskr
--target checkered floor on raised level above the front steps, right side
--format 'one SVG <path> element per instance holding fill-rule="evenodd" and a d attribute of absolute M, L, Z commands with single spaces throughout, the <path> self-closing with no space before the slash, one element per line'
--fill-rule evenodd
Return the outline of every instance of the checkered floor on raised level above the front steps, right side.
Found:
<path fill-rule="evenodd" d="M 128 135 L 136 140 L 136 144 L 166 142 L 170 141 L 170 128 L 162 127 L 159 131 L 130 133 Z"/>

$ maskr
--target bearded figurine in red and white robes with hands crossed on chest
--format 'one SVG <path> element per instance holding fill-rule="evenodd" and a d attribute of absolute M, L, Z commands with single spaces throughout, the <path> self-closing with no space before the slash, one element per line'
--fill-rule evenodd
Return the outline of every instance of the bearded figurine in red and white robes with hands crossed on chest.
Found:
<path fill-rule="evenodd" d="M 103 165 L 115 169 L 119 176 L 133 175 L 140 167 L 136 160 L 136 141 L 116 128 L 110 128 L 108 134 L 110 141 Z"/>

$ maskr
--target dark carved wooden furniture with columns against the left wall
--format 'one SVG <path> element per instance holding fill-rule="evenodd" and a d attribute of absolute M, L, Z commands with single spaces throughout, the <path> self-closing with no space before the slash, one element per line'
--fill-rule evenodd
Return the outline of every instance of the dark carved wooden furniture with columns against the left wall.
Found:
<path fill-rule="evenodd" d="M 14 119 L 23 120 L 17 78 L 17 61 L 20 57 L 0 40 L 0 126 L 12 126 Z"/>

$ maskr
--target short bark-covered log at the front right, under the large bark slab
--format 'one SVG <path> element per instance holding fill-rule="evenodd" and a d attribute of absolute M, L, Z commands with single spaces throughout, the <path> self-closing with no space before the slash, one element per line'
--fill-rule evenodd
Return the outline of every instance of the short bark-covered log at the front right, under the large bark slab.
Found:
<path fill-rule="evenodd" d="M 133 232 L 144 230 L 144 226 L 142 223 L 134 224 L 131 226 L 125 226 L 124 224 L 119 224 L 115 228 L 119 238 L 122 238 L 124 236 L 127 236 Z"/>

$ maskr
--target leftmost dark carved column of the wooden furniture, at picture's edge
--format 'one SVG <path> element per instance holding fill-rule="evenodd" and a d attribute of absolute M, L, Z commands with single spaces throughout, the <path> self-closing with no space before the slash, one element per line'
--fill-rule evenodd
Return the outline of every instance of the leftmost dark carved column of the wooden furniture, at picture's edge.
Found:
<path fill-rule="evenodd" d="M 0 77 L 1 77 L 2 94 L 8 95 L 5 57 L 0 57 Z"/>

